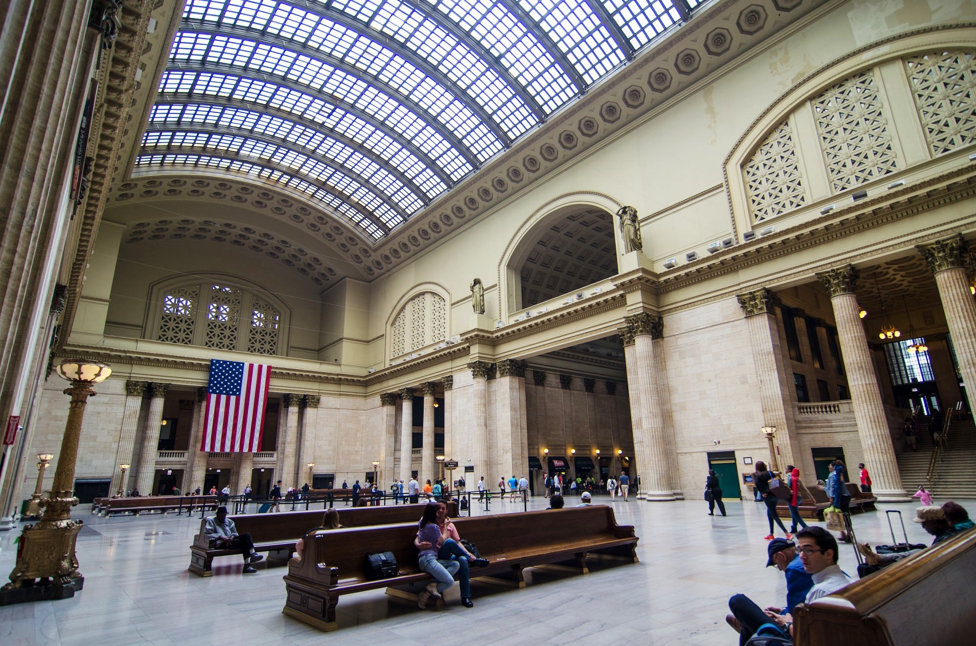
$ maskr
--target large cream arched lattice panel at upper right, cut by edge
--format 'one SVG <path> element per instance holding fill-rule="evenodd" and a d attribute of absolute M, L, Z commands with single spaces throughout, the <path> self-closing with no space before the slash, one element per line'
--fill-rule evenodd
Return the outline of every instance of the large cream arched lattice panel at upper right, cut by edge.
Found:
<path fill-rule="evenodd" d="M 968 163 L 974 42 L 972 27 L 915 32 L 863 47 L 793 86 L 726 158 L 735 228 L 789 226 L 855 193 Z"/>

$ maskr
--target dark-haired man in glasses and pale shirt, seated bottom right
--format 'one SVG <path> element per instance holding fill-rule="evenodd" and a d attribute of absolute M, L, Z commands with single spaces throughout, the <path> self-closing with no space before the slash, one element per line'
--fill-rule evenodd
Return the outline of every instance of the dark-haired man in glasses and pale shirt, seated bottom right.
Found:
<path fill-rule="evenodd" d="M 810 575 L 813 581 L 813 586 L 806 593 L 806 598 L 804 599 L 806 603 L 812 603 L 822 596 L 833 594 L 847 584 L 853 583 L 853 580 L 844 574 L 840 570 L 840 566 L 837 565 L 839 558 L 839 554 L 837 553 L 837 540 L 834 539 L 833 534 L 823 527 L 808 527 L 797 532 L 796 544 L 796 552 L 799 554 L 799 560 L 803 565 L 803 570 Z M 772 548 L 772 545 L 770 545 L 770 548 Z M 772 557 L 773 554 L 771 553 L 770 558 L 772 559 Z M 745 599 L 745 602 L 748 602 L 745 603 L 737 597 L 742 597 L 742 595 L 737 594 L 732 599 L 729 599 L 729 607 L 733 609 L 735 619 L 741 624 L 741 643 L 744 644 L 749 639 L 749 636 L 746 636 L 747 631 L 752 636 L 752 632 L 763 624 L 774 624 L 780 628 L 784 636 L 793 638 L 793 615 L 790 612 L 790 608 L 787 608 L 783 614 L 778 612 L 779 609 L 777 608 L 767 608 L 766 610 L 760 611 L 759 607 L 748 598 L 742 597 L 742 599 Z M 736 607 L 733 607 L 733 600 L 738 601 Z M 731 625 L 732 622 L 729 622 L 729 624 Z M 736 626 L 733 625 L 733 627 Z"/>

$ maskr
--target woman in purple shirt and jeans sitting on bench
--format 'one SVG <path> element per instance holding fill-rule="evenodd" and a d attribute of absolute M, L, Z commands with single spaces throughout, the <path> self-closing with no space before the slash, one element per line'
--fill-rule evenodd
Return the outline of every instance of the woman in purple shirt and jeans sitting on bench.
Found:
<path fill-rule="evenodd" d="M 424 505 L 424 516 L 414 545 L 420 550 L 417 559 L 421 570 L 427 572 L 434 581 L 417 595 L 417 605 L 427 607 L 427 600 L 436 598 L 441 592 L 454 585 L 454 575 L 458 574 L 461 584 L 461 605 L 473 608 L 471 603 L 471 584 L 468 575 L 468 551 L 440 533 L 440 527 L 447 516 L 447 505 L 430 503 Z M 438 558 L 438 554 L 442 556 Z"/>

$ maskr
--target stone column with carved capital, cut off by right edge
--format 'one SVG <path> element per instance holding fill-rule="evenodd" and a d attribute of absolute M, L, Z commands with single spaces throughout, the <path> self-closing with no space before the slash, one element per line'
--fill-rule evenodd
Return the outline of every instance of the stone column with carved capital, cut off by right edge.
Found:
<path fill-rule="evenodd" d="M 969 276 L 966 273 L 969 247 L 960 234 L 918 247 L 918 251 L 935 274 L 935 284 L 939 288 L 946 322 L 949 323 L 962 383 L 966 384 L 969 410 L 976 412 L 976 303 L 969 292 Z M 949 405 L 950 402 L 943 403 L 943 406 Z"/>

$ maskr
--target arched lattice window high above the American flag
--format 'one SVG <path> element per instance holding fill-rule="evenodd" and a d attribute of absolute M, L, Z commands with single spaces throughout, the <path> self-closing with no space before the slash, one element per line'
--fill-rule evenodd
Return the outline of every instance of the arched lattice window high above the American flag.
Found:
<path fill-rule="evenodd" d="M 225 278 L 169 281 L 153 289 L 150 303 L 158 305 L 145 336 L 166 343 L 280 354 L 286 311 L 270 301 Z"/>

